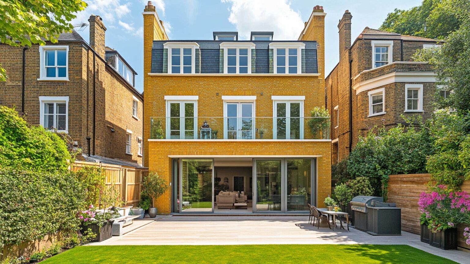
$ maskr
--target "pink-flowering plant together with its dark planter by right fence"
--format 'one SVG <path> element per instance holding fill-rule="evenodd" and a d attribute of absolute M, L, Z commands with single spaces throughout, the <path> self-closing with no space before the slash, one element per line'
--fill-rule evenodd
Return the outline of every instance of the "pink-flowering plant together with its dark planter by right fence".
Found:
<path fill-rule="evenodd" d="M 418 205 L 423 212 L 421 241 L 442 249 L 457 248 L 456 225 L 470 224 L 470 195 L 439 185 L 429 194 L 421 193 Z"/>

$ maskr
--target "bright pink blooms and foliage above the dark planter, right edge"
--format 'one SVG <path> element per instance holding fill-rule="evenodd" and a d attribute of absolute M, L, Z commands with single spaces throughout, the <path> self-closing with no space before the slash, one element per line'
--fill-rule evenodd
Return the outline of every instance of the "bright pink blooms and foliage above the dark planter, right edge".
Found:
<path fill-rule="evenodd" d="M 418 205 L 423 212 L 421 224 L 428 225 L 432 232 L 455 228 L 457 224 L 470 225 L 470 194 L 467 192 L 453 191 L 439 185 L 431 193 L 421 193 Z M 466 233 L 470 239 L 469 231 Z M 467 242 L 470 242 L 468 239 Z"/>

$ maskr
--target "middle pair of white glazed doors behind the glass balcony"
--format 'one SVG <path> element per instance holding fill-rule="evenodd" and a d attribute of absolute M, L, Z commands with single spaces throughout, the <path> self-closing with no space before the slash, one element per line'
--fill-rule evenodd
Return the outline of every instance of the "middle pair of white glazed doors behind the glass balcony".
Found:
<path fill-rule="evenodd" d="M 253 139 L 253 128 L 255 127 L 253 110 L 253 103 L 227 102 L 224 120 L 226 139 Z"/>

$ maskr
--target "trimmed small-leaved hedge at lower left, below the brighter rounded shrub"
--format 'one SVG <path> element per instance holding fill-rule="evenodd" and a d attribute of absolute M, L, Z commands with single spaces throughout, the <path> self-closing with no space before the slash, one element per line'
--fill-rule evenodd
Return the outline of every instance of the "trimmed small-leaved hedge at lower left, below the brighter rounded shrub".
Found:
<path fill-rule="evenodd" d="M 85 190 L 73 172 L 0 170 L 0 248 L 77 231 Z"/>

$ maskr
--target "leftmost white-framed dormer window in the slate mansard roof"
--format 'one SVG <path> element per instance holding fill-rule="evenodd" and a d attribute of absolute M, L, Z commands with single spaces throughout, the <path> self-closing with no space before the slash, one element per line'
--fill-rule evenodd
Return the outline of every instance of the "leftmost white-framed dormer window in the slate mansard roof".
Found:
<path fill-rule="evenodd" d="M 197 43 L 166 42 L 163 47 L 168 49 L 168 73 L 195 73 L 196 47 L 199 48 Z"/>

